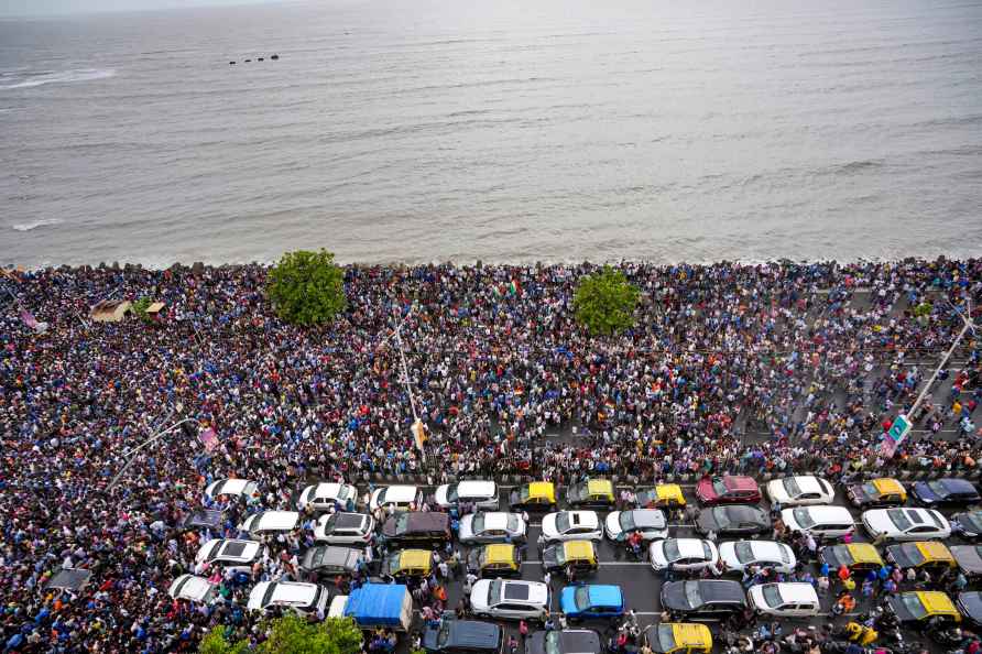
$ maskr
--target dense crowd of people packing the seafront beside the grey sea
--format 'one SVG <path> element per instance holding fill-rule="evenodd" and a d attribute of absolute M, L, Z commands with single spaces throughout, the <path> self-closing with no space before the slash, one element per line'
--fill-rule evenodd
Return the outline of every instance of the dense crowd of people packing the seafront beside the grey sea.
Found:
<path fill-rule="evenodd" d="M 166 593 L 195 571 L 201 542 L 182 519 L 229 476 L 258 481 L 255 505 L 275 509 L 305 480 L 373 472 L 648 483 L 976 466 L 982 352 L 971 333 L 895 457 L 880 440 L 982 302 L 982 260 L 620 269 L 642 302 L 635 327 L 605 339 L 574 318 L 587 264 L 349 266 L 347 310 L 309 329 L 276 318 L 255 264 L 0 276 L 7 650 L 193 651 L 214 624 L 262 639 L 241 603 Z M 89 308 L 107 297 L 150 297 L 165 315 L 94 323 Z M 408 428 L 396 325 L 425 456 Z M 197 424 L 124 467 L 130 448 L 184 418 Z M 214 450 L 197 439 L 207 429 Z M 254 579 L 288 574 L 301 544 L 279 545 Z M 78 592 L 47 588 L 62 567 L 92 579 Z M 248 592 L 223 581 L 230 598 Z"/>

